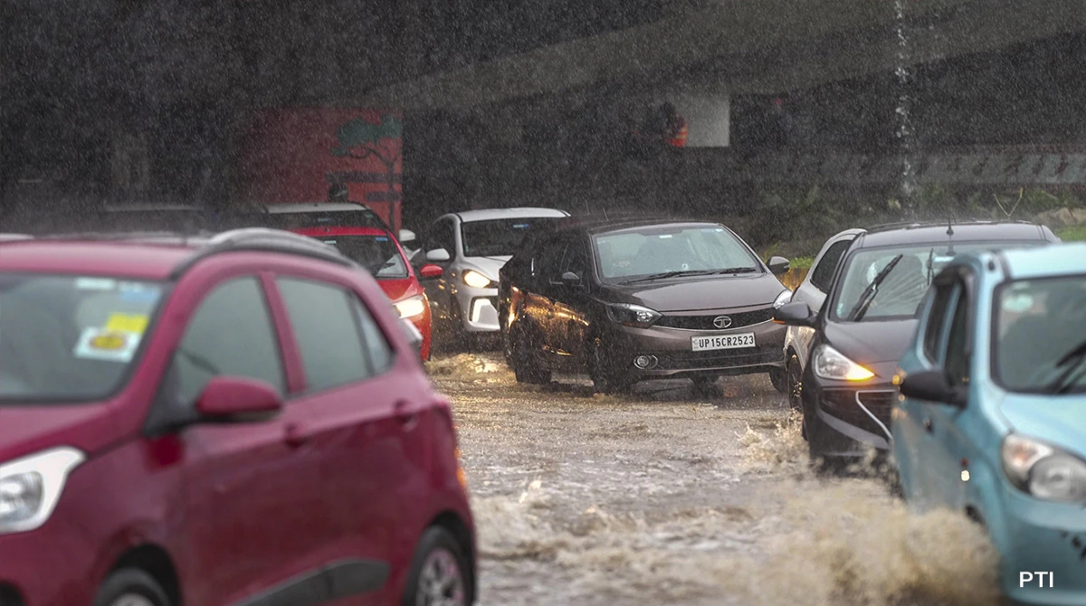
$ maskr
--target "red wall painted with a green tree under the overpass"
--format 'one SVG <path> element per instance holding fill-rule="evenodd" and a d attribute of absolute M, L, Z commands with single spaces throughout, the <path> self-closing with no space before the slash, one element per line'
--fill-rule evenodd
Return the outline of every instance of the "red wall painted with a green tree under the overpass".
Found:
<path fill-rule="evenodd" d="M 374 209 L 393 229 L 401 224 L 403 189 L 402 138 L 379 141 L 386 156 L 395 157 L 392 200 L 389 171 L 370 155 L 365 159 L 337 156 L 337 129 L 355 118 L 380 124 L 382 117 L 402 119 L 399 111 L 342 108 L 285 108 L 252 114 L 240 146 L 237 168 L 240 202 L 274 204 L 323 202 L 332 182 L 343 182 L 353 202 Z"/>

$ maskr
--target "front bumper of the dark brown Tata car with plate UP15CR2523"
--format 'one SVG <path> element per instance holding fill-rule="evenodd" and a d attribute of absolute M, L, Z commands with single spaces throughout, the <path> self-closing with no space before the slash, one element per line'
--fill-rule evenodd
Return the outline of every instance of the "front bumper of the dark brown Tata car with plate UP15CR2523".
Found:
<path fill-rule="evenodd" d="M 613 326 L 614 332 L 607 340 L 608 358 L 635 379 L 747 375 L 784 367 L 785 327 L 773 321 L 730 330 Z M 754 346 L 693 351 L 694 338 L 745 332 L 754 333 Z M 639 356 L 646 356 L 654 363 L 649 367 L 637 367 L 634 361 Z"/>

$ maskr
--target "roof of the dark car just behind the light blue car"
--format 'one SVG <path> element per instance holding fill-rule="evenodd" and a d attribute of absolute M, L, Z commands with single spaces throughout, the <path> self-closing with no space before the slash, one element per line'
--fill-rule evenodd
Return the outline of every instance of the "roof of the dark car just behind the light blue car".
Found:
<path fill-rule="evenodd" d="M 985 242 L 1001 240 L 1057 241 L 1056 236 L 1047 227 L 1026 222 L 932 222 L 873 227 L 857 237 L 854 248 L 893 247 L 948 241 Z"/>

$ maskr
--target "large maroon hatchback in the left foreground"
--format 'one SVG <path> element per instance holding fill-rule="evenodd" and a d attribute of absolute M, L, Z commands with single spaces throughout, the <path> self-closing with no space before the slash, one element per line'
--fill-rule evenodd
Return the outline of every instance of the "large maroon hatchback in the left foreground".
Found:
<path fill-rule="evenodd" d="M 475 601 L 449 402 L 310 238 L 0 240 L 0 604 Z"/>

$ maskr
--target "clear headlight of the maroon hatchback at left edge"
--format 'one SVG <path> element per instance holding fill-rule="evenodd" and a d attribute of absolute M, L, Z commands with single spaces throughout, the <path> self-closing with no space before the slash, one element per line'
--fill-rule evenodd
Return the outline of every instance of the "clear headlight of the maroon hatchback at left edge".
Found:
<path fill-rule="evenodd" d="M 46 523 L 68 474 L 85 458 L 81 452 L 64 446 L 0 465 L 0 534 Z"/>

